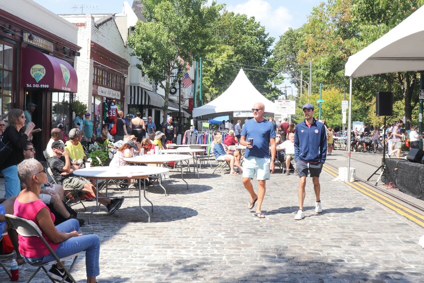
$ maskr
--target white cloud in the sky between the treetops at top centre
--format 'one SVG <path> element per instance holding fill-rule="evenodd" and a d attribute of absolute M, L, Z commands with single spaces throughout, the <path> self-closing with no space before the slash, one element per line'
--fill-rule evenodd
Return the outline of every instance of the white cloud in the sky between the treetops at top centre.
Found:
<path fill-rule="evenodd" d="M 248 0 L 237 5 L 227 5 L 229 11 L 254 16 L 256 21 L 265 26 L 267 32 L 278 40 L 293 20 L 289 10 L 284 6 L 272 7 L 266 0 Z"/>

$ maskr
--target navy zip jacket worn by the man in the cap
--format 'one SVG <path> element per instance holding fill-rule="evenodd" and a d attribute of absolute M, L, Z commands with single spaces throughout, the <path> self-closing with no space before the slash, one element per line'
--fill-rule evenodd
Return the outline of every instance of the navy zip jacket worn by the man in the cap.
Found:
<path fill-rule="evenodd" d="M 314 119 L 311 127 L 303 121 L 294 132 L 294 159 L 323 163 L 327 157 L 327 132 L 323 123 Z"/>

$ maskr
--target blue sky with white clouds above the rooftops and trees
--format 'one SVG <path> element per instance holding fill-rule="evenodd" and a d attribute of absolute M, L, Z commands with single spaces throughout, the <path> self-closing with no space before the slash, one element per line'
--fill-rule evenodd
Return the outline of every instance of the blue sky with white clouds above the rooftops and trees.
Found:
<path fill-rule="evenodd" d="M 276 39 L 289 27 L 297 28 L 305 23 L 312 7 L 321 1 L 217 0 L 218 3 L 226 3 L 228 10 L 254 16 Z M 35 0 L 35 2 L 57 14 L 81 13 L 81 8 L 74 8 L 81 5 L 85 6 L 84 13 L 118 13 L 121 12 L 124 3 L 120 0 Z M 132 2 L 133 0 L 128 0 L 130 5 Z"/>

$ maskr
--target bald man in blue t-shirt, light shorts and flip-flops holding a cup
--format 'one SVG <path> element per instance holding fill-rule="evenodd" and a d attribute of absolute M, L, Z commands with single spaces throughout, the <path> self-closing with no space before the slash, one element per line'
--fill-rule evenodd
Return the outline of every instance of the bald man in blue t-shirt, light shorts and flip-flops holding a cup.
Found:
<path fill-rule="evenodd" d="M 265 196 L 265 182 L 269 179 L 270 173 L 274 172 L 275 161 L 275 127 L 268 120 L 263 118 L 265 105 L 261 102 L 253 105 L 253 119 L 248 120 L 241 130 L 239 143 L 247 147 L 243 162 L 243 185 L 250 194 L 248 209 L 251 210 L 257 201 L 255 216 L 265 218 L 261 212 L 262 201 Z M 271 148 L 271 158 L 269 158 L 269 148 Z M 258 180 L 258 192 L 255 194 L 251 179 L 256 173 Z"/>

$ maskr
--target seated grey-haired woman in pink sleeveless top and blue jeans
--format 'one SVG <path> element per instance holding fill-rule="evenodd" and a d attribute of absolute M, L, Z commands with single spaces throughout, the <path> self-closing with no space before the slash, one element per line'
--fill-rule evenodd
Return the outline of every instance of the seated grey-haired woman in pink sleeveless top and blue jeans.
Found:
<path fill-rule="evenodd" d="M 79 224 L 76 219 L 69 219 L 55 227 L 54 215 L 39 198 L 41 185 L 47 182 L 45 169 L 41 163 L 32 158 L 22 161 L 17 167 L 19 179 L 25 183 L 26 189 L 22 190 L 16 198 L 14 215 L 33 221 L 59 258 L 85 251 L 87 283 L 95 283 L 100 273 L 99 237 L 94 234 L 79 234 Z M 54 257 L 38 237 L 19 235 L 19 252 L 25 262 L 54 261 Z M 53 265 L 47 275 L 59 281 L 66 276 L 57 265 Z"/>

